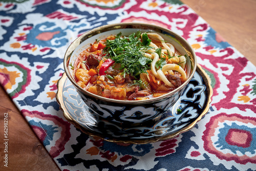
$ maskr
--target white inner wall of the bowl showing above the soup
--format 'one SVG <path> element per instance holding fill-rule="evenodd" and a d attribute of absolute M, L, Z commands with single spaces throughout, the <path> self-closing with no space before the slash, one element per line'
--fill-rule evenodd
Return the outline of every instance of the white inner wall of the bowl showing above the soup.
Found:
<path fill-rule="evenodd" d="M 196 61 L 196 55 L 195 55 L 194 50 L 189 46 L 189 44 L 187 43 L 187 41 L 184 38 L 182 38 L 181 36 L 179 36 L 178 34 L 172 32 L 170 30 L 167 30 L 165 28 L 161 28 L 158 26 L 151 26 L 151 25 L 147 25 L 147 24 L 138 24 L 138 23 L 137 24 L 122 23 L 122 24 L 118 24 L 118 25 L 102 26 L 102 27 L 93 29 L 87 33 L 84 33 L 70 45 L 70 47 L 68 48 L 68 50 L 65 54 L 64 67 L 65 67 L 65 72 L 67 73 L 67 76 L 69 77 L 71 82 L 75 85 L 75 87 L 77 87 L 81 91 L 84 91 L 84 93 L 87 93 L 90 96 L 95 96 L 96 98 L 101 98 L 97 95 L 94 95 L 90 92 L 87 92 L 87 91 L 81 89 L 78 86 L 78 84 L 75 82 L 73 70 L 71 69 L 70 64 L 71 64 L 71 66 L 74 66 L 75 60 L 78 57 L 79 53 L 82 52 L 84 49 L 87 49 L 88 47 L 90 47 L 90 45 L 93 44 L 93 42 L 96 39 L 98 39 L 98 40 L 104 39 L 104 38 L 108 37 L 109 35 L 112 35 L 112 34 L 117 35 L 120 32 L 122 35 L 128 36 L 132 33 L 136 33 L 137 31 L 140 31 L 141 33 L 144 33 L 144 32 L 158 33 L 164 38 L 165 41 L 172 44 L 180 52 L 181 55 L 186 55 L 187 73 L 188 73 L 187 80 L 182 84 L 182 86 L 180 86 L 179 88 L 174 90 L 173 93 L 179 91 L 179 89 L 182 89 L 182 87 L 184 87 L 189 82 L 189 80 L 193 77 L 193 75 L 196 71 L 197 61 Z M 171 93 L 172 92 L 170 92 L 168 94 L 171 94 Z M 166 95 L 168 95 L 168 94 L 166 94 Z M 163 96 L 166 96 L 166 95 L 163 95 Z M 157 97 L 157 98 L 161 98 L 161 96 Z M 157 99 L 157 98 L 154 98 L 154 99 Z M 119 101 L 125 101 L 127 103 L 126 100 L 119 100 Z M 147 100 L 140 100 L 140 101 L 147 101 Z"/>

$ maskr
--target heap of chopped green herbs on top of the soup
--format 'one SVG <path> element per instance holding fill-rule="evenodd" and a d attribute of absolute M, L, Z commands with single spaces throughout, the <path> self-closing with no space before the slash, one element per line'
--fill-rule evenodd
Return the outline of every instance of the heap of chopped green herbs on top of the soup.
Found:
<path fill-rule="evenodd" d="M 141 73 L 147 73 L 146 70 L 150 69 L 152 59 L 144 56 L 144 51 L 152 49 L 150 45 L 151 39 L 147 34 L 140 32 L 133 33 L 127 36 L 117 34 L 114 40 L 106 40 L 104 54 L 110 57 L 116 63 L 120 63 L 119 70 L 123 70 L 122 75 L 126 74 L 139 78 Z"/>

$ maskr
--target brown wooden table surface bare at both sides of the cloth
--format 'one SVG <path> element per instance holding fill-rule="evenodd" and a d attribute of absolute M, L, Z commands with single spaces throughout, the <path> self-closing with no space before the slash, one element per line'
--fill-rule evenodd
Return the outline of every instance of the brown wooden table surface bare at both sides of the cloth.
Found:
<path fill-rule="evenodd" d="M 256 65 L 256 1 L 254 0 L 183 0 L 233 47 Z M 0 88 L 0 170 L 3 164 L 4 113 L 8 113 L 8 169 L 58 170 L 44 145 L 40 143 L 15 104 Z"/>

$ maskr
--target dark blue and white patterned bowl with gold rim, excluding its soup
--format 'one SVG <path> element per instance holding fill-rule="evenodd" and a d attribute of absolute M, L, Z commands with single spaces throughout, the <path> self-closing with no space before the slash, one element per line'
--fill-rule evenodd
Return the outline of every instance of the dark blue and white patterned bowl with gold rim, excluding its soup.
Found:
<path fill-rule="evenodd" d="M 186 55 L 187 78 L 180 87 L 159 97 L 131 101 L 101 97 L 78 86 L 70 66 L 74 66 L 74 62 L 81 51 L 88 48 L 96 39 L 103 39 L 111 34 L 117 35 L 120 32 L 122 35 L 130 35 L 138 30 L 141 33 L 153 32 L 160 34 L 164 40 L 173 44 L 181 55 Z M 110 24 L 92 29 L 76 38 L 67 49 L 64 57 L 64 68 L 68 79 L 76 88 L 81 99 L 94 112 L 94 116 L 97 119 L 124 127 L 156 120 L 169 110 L 180 98 L 188 82 L 193 77 L 196 67 L 196 54 L 183 37 L 166 28 L 144 23 Z"/>

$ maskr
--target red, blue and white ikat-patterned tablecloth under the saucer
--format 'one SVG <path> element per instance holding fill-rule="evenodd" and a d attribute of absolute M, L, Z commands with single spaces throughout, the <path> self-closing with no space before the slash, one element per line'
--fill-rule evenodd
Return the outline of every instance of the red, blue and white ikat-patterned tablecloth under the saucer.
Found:
<path fill-rule="evenodd" d="M 211 79 L 209 112 L 173 139 L 118 144 L 81 133 L 55 95 L 71 42 L 95 27 L 143 22 L 194 48 Z M 0 3 L 0 81 L 61 170 L 255 170 L 256 68 L 177 0 Z"/>

